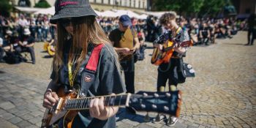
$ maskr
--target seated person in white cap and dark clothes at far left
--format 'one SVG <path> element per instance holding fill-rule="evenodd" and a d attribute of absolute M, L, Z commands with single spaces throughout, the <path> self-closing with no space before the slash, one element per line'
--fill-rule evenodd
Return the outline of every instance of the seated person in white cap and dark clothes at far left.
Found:
<path fill-rule="evenodd" d="M 15 48 L 18 53 L 29 52 L 31 56 L 32 64 L 36 64 L 36 57 L 34 55 L 34 37 L 31 36 L 29 29 L 24 29 L 23 36 L 20 37 L 18 42 L 20 47 Z"/>

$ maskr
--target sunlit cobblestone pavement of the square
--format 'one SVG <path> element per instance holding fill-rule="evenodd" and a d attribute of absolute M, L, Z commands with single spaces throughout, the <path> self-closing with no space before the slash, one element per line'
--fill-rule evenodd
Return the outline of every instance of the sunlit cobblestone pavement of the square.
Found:
<path fill-rule="evenodd" d="M 217 45 L 189 49 L 185 62 L 195 78 L 178 86 L 183 91 L 181 117 L 174 127 L 256 127 L 256 50 L 246 44 L 246 32 Z M 148 46 L 151 44 L 148 43 Z M 52 59 L 35 45 L 37 64 L 0 64 L 0 127 L 39 127 L 42 94 L 49 82 Z M 135 67 L 136 90 L 155 91 L 157 67 L 150 64 L 152 49 Z M 145 122 L 146 113 L 130 115 L 121 108 L 117 127 L 167 127 L 165 122 Z M 151 120 L 155 116 L 150 113 Z"/>

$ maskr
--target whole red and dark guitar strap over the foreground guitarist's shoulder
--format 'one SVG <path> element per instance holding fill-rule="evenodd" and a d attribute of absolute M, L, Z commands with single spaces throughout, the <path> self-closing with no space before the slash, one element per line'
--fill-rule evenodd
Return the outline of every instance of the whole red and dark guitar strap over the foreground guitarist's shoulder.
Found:
<path fill-rule="evenodd" d="M 89 91 L 90 87 L 94 84 L 95 74 L 97 71 L 97 66 L 99 62 L 99 54 L 104 45 L 97 45 L 91 52 L 91 56 L 86 56 L 86 60 L 81 64 L 82 69 L 80 70 L 81 75 L 81 86 L 79 91 L 80 97 L 86 97 L 89 94 L 91 97 L 94 97 Z M 88 63 L 86 64 L 86 61 Z"/>

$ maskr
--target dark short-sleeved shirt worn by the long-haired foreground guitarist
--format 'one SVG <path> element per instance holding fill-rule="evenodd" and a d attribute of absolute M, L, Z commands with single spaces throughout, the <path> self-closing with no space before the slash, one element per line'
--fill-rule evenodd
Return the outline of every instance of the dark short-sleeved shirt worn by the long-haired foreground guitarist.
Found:
<path fill-rule="evenodd" d="M 72 42 L 69 44 L 71 43 Z M 93 47 L 93 45 L 89 44 L 88 53 L 86 56 L 91 55 Z M 69 47 L 64 47 L 64 66 L 61 67 L 59 73 L 59 83 L 61 83 L 61 85 L 69 85 L 67 68 L 68 48 Z M 105 44 L 102 47 L 101 53 L 99 55 L 97 71 L 94 76 L 94 84 L 89 89 L 91 94 L 94 96 L 108 95 L 112 93 L 121 94 L 125 92 L 124 82 L 121 79 L 118 64 L 116 64 L 116 57 L 114 52 L 115 51 L 113 50 L 113 47 L 109 44 Z M 83 67 L 80 69 L 83 69 Z M 83 72 L 85 72 L 85 70 L 83 70 L 81 73 L 78 73 L 74 83 L 81 84 L 81 80 L 83 80 Z M 55 74 L 53 72 L 50 78 L 54 80 L 54 76 Z M 102 121 L 97 118 L 91 118 L 89 110 L 80 110 L 72 123 L 72 127 L 114 128 L 116 127 L 116 116 Z"/>

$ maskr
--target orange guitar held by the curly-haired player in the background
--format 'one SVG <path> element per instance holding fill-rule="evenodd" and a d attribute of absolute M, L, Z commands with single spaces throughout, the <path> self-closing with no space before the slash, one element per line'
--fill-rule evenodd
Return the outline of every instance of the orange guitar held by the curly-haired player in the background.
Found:
<path fill-rule="evenodd" d="M 162 63 L 167 63 L 170 61 L 170 57 L 173 55 L 173 47 L 176 45 L 177 42 L 174 42 L 174 40 L 168 40 L 167 43 L 162 44 L 163 48 L 162 50 L 159 50 L 159 48 L 154 48 L 154 51 L 152 53 L 151 57 L 151 64 L 154 65 L 160 65 Z M 192 46 L 193 42 L 192 40 L 188 40 L 185 42 L 178 43 L 181 47 L 189 47 Z"/>

